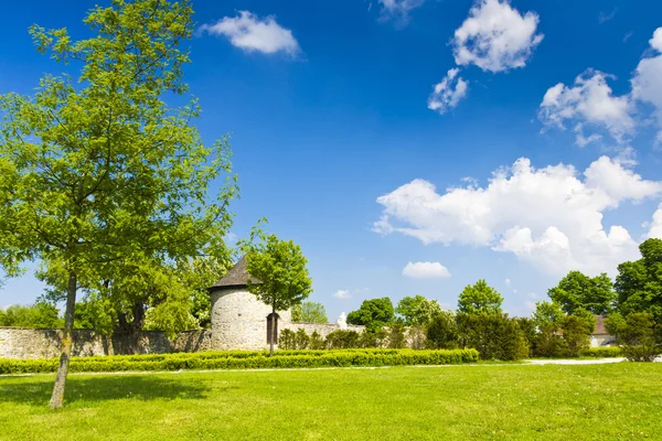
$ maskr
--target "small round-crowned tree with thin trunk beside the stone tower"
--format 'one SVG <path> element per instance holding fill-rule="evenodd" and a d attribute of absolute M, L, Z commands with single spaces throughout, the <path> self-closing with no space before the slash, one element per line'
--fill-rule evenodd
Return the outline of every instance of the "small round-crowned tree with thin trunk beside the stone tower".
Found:
<path fill-rule="evenodd" d="M 286 311 L 310 295 L 312 280 L 301 247 L 291 240 L 280 240 L 269 235 L 246 256 L 250 275 L 248 291 L 271 306 L 271 338 L 269 355 L 274 355 L 277 311 Z"/>

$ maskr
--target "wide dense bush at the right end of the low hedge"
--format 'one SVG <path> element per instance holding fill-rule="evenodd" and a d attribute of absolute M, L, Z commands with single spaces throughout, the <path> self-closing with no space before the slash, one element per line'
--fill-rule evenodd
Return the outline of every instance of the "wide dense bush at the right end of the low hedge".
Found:
<path fill-rule="evenodd" d="M 482 359 L 513 361 L 528 356 L 524 333 L 508 314 L 458 313 L 457 323 L 460 344 L 478 349 Z"/>

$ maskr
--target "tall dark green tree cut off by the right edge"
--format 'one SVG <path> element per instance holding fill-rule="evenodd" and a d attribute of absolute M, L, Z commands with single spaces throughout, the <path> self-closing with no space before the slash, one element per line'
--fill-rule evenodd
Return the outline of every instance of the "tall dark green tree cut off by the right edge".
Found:
<path fill-rule="evenodd" d="M 648 239 L 640 246 L 641 259 L 618 266 L 616 292 L 623 314 L 650 313 L 662 323 L 662 239 Z"/>

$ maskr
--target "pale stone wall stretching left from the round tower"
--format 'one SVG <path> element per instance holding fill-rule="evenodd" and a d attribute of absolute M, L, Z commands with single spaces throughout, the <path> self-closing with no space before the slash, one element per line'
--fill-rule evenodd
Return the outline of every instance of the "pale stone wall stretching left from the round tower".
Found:
<path fill-rule="evenodd" d="M 62 331 L 0 327 L 0 358 L 54 358 L 60 356 Z M 74 356 L 127 354 L 128 340 L 121 335 L 111 337 L 94 331 L 74 331 Z M 140 354 L 171 352 L 199 352 L 212 349 L 210 330 L 188 331 L 171 342 L 162 332 L 143 332 L 138 340 Z"/>

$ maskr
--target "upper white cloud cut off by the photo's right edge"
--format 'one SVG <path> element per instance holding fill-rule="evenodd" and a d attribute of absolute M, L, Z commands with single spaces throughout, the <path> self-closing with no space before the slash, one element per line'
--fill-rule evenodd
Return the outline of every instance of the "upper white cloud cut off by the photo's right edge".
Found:
<path fill-rule="evenodd" d="M 658 140 L 662 142 L 662 28 L 655 30 L 649 43 L 660 54 L 639 62 L 632 77 L 632 96 L 654 106 L 661 127 Z"/>

